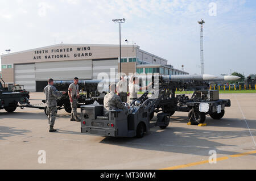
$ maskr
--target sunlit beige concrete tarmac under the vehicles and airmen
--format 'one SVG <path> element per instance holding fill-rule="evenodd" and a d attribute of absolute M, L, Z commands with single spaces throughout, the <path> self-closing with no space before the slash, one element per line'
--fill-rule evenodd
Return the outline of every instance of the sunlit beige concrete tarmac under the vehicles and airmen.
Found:
<path fill-rule="evenodd" d="M 221 120 L 207 116 L 207 127 L 198 127 L 187 125 L 188 113 L 176 112 L 167 129 L 152 128 L 141 139 L 82 134 L 64 110 L 56 133 L 48 132 L 43 110 L 0 110 L 0 169 L 256 169 L 256 94 L 220 98 L 232 103 Z M 42 99 L 31 93 L 31 104 Z M 39 150 L 46 151 L 45 164 Z M 216 163 L 208 163 L 210 150 Z"/>

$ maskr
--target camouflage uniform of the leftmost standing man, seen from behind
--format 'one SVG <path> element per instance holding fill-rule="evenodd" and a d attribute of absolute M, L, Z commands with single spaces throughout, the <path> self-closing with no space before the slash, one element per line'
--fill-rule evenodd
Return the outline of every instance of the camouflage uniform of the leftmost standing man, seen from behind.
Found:
<path fill-rule="evenodd" d="M 57 98 L 62 95 L 62 92 L 57 91 L 54 86 L 48 85 L 44 87 L 44 94 L 46 95 L 48 122 L 50 127 L 53 128 L 57 113 Z"/>

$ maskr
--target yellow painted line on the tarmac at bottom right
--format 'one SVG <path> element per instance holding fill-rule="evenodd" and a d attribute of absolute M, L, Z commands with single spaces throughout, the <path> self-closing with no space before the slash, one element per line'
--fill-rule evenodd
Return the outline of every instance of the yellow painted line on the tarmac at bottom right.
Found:
<path fill-rule="evenodd" d="M 245 155 L 250 155 L 250 154 L 255 154 L 256 151 L 249 151 L 249 152 L 246 152 L 246 153 L 240 153 L 240 154 L 234 154 L 234 155 L 229 155 L 227 157 L 220 157 L 220 158 L 217 158 L 216 161 L 222 161 L 222 160 L 226 160 L 226 159 L 229 159 L 229 158 L 234 158 L 234 157 L 242 157 L 242 156 L 245 156 Z M 209 163 L 208 160 L 205 160 L 205 161 L 201 161 L 201 162 L 193 162 L 193 163 L 188 163 L 188 164 L 184 164 L 184 165 L 177 165 L 177 166 L 172 166 L 172 167 L 166 167 L 164 169 L 159 169 L 159 170 L 176 170 L 176 169 L 183 169 L 183 168 L 186 168 L 186 167 L 192 167 L 192 166 L 196 166 L 196 165 L 203 165 L 205 163 Z M 210 163 L 209 163 L 210 164 Z"/>

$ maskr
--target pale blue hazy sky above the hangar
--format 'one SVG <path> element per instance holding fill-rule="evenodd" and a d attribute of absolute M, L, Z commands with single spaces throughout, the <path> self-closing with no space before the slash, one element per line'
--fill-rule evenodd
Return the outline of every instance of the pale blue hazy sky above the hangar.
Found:
<path fill-rule="evenodd" d="M 1 0 L 0 54 L 59 44 L 136 43 L 174 68 L 200 74 L 204 19 L 204 72 L 256 74 L 254 0 Z"/>

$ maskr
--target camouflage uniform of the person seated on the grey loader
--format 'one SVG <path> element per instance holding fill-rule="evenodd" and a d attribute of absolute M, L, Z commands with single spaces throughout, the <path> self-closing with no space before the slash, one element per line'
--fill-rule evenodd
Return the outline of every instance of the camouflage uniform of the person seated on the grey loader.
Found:
<path fill-rule="evenodd" d="M 104 97 L 104 116 L 109 116 L 109 110 L 123 110 L 126 114 L 128 108 L 122 103 L 121 99 L 114 92 L 110 92 Z"/>

